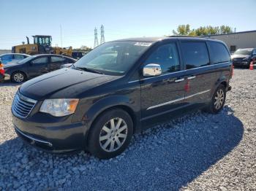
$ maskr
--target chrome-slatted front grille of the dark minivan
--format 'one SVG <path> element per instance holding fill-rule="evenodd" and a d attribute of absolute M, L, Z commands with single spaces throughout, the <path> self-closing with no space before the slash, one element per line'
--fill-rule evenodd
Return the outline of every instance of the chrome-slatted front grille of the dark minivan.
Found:
<path fill-rule="evenodd" d="M 12 102 L 12 113 L 17 117 L 26 118 L 36 103 L 34 99 L 27 98 L 18 92 Z"/>

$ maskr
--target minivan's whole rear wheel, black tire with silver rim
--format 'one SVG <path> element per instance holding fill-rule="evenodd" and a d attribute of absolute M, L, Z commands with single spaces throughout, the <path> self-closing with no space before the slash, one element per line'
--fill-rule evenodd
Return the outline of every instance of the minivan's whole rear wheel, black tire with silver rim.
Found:
<path fill-rule="evenodd" d="M 226 88 L 224 85 L 219 85 L 217 90 L 215 90 L 214 95 L 211 98 L 211 102 L 204 109 L 206 112 L 211 114 L 219 113 L 226 101 Z"/>

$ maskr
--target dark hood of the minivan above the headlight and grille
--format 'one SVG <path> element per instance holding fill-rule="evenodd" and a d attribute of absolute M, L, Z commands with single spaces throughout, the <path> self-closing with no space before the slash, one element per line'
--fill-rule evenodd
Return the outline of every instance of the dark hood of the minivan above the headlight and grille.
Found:
<path fill-rule="evenodd" d="M 120 78 L 75 69 L 59 69 L 31 79 L 20 86 L 20 93 L 35 100 L 79 98 L 80 93 Z"/>

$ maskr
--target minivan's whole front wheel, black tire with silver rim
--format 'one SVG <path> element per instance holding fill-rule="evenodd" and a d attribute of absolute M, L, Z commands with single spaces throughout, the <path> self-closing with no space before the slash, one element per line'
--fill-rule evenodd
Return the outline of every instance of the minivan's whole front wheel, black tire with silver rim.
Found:
<path fill-rule="evenodd" d="M 132 118 L 123 109 L 111 109 L 95 120 L 89 133 L 89 152 L 100 159 L 124 152 L 132 139 Z"/>

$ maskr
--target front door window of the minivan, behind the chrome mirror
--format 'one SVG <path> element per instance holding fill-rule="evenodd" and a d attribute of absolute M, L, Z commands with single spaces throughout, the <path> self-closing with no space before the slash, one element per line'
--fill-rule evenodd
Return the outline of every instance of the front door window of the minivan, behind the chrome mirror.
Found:
<path fill-rule="evenodd" d="M 148 57 L 145 65 L 148 63 L 157 63 L 162 68 L 162 74 L 172 71 L 179 71 L 180 63 L 178 61 L 178 52 L 175 43 L 165 44 L 154 50 Z"/>

